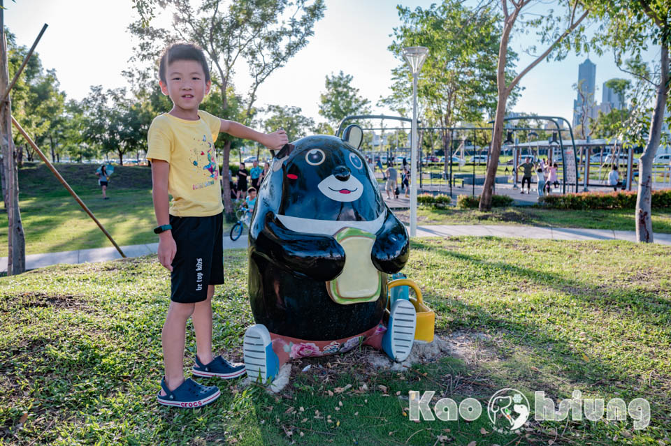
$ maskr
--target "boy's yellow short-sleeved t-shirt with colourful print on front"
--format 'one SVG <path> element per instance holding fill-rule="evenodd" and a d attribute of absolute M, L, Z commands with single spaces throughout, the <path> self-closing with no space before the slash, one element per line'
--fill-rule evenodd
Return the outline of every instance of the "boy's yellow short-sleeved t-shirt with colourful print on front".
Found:
<path fill-rule="evenodd" d="M 221 121 L 202 110 L 198 114 L 198 121 L 161 114 L 147 133 L 147 159 L 170 163 L 169 213 L 178 217 L 206 217 L 224 210 L 215 151 Z"/>

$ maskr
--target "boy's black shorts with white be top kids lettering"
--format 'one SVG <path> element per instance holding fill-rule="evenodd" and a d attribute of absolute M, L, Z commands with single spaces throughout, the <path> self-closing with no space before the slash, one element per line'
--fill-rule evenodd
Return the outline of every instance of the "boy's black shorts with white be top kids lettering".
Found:
<path fill-rule="evenodd" d="M 208 285 L 224 283 L 223 215 L 170 216 L 177 244 L 171 273 L 173 302 L 203 302 L 208 298 Z"/>

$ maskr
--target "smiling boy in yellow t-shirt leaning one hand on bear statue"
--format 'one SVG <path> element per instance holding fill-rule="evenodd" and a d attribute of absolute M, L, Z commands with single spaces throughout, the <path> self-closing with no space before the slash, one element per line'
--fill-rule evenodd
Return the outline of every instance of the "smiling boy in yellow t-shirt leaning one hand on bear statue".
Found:
<path fill-rule="evenodd" d="M 159 66 L 161 91 L 173 108 L 152 121 L 147 159 L 152 161 L 152 196 L 159 234 L 158 256 L 171 272 L 171 304 L 162 342 L 165 378 L 157 398 L 166 406 L 192 408 L 215 401 L 219 389 L 183 373 L 186 323 L 193 315 L 196 376 L 235 378 L 243 364 L 212 356 L 212 295 L 224 283 L 222 195 L 214 142 L 219 132 L 254 140 L 270 149 L 288 142 L 284 131 L 264 134 L 198 109 L 210 91 L 210 72 L 195 45 L 168 47 Z M 173 201 L 168 209 L 168 193 Z"/>

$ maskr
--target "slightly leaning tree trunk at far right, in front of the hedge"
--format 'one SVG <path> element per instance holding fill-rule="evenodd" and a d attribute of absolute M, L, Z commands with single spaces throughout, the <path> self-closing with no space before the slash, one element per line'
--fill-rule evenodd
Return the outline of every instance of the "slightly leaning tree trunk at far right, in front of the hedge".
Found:
<path fill-rule="evenodd" d="M 657 86 L 655 108 L 650 120 L 648 143 L 638 161 L 638 194 L 636 197 L 636 239 L 651 243 L 653 241 L 651 202 L 652 202 L 652 161 L 656 154 L 662 133 L 664 110 L 668 98 L 669 84 L 669 47 L 662 43 L 661 76 Z"/>

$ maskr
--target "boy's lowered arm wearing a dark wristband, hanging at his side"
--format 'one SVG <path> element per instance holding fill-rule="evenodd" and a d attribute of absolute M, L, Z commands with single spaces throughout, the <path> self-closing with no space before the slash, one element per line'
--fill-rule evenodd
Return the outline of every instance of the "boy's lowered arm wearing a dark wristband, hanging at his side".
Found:
<path fill-rule="evenodd" d="M 156 223 L 159 226 L 170 224 L 168 216 L 168 174 L 170 173 L 170 163 L 167 161 L 152 160 L 152 198 L 154 199 L 154 214 L 156 214 Z M 175 254 L 177 253 L 177 244 L 173 239 L 173 232 L 166 230 L 159 234 L 159 262 L 169 271 L 173 270 L 171 265 Z"/>

